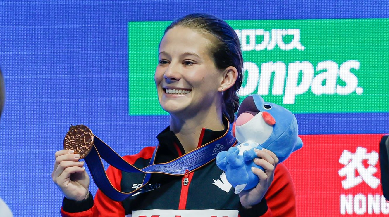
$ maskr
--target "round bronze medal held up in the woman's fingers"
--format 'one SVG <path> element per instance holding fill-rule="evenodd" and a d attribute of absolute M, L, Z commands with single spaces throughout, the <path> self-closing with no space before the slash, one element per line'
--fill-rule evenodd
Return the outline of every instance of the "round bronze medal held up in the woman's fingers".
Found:
<path fill-rule="evenodd" d="M 89 154 L 93 146 L 93 133 L 85 125 L 70 125 L 69 131 L 63 139 L 63 149 L 74 150 L 74 154 L 79 154 L 80 159 Z"/>

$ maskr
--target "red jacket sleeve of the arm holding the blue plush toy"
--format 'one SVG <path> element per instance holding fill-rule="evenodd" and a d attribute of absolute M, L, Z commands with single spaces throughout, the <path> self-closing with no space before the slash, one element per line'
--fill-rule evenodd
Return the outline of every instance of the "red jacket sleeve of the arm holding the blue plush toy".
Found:
<path fill-rule="evenodd" d="M 296 193 L 289 170 L 279 163 L 274 171 L 274 180 L 265 194 L 268 211 L 262 217 L 295 217 Z"/>

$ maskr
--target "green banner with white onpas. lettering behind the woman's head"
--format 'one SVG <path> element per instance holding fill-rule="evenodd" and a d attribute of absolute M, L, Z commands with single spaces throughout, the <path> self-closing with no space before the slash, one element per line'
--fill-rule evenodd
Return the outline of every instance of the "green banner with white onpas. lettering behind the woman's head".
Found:
<path fill-rule="evenodd" d="M 130 22 L 129 113 L 166 115 L 154 71 L 171 22 Z M 389 112 L 389 19 L 227 21 L 242 43 L 238 94 L 293 113 Z"/>

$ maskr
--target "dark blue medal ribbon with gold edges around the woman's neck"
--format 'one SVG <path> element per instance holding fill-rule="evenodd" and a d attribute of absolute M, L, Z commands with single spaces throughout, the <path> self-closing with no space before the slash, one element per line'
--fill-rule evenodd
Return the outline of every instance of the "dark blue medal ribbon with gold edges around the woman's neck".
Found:
<path fill-rule="evenodd" d="M 227 151 L 236 143 L 235 137 L 232 135 L 232 128 L 228 123 L 227 132 L 218 139 L 209 142 L 200 148 L 197 148 L 179 158 L 166 162 L 154 164 L 155 155 L 159 145 L 154 149 L 151 156 L 149 166 L 139 169 L 119 156 L 105 142 L 94 135 L 94 143 L 90 153 L 84 158 L 86 165 L 96 183 L 96 186 L 109 198 L 114 201 L 123 201 L 127 197 L 137 193 L 140 189 L 149 182 L 152 173 L 162 173 L 170 175 L 184 175 L 186 170 L 192 172 L 203 165 L 209 163 L 216 158 L 216 155 L 221 151 Z M 115 189 L 110 183 L 102 159 L 113 167 L 124 172 L 144 173 L 145 177 L 142 186 L 131 192 L 121 192 Z"/>

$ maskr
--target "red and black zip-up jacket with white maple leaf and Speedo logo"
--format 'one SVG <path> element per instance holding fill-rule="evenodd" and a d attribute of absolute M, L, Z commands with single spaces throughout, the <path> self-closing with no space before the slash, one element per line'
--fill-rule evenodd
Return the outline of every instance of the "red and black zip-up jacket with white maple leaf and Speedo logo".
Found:
<path fill-rule="evenodd" d="M 217 139 L 225 131 L 226 129 L 212 131 L 203 128 L 198 146 Z M 160 146 L 154 163 L 165 163 L 185 154 L 180 141 L 169 127 L 157 139 Z M 137 155 L 123 158 L 135 167 L 143 168 L 149 165 L 154 149 L 155 147 L 146 147 Z M 198 216 L 207 217 L 296 216 L 293 181 L 281 163 L 275 169 L 274 180 L 265 194 L 266 199 L 249 209 L 242 207 L 234 188 L 228 187 L 228 182 L 221 181 L 222 174 L 223 171 L 216 166 L 215 161 L 183 176 L 152 174 L 147 186 L 121 202 L 110 200 L 100 190 L 97 191 L 95 200 L 91 193 L 84 201 L 64 198 L 61 216 L 185 217 L 185 210 L 191 210 L 191 213 L 196 211 Z M 122 172 L 112 166 L 107 169 L 107 175 L 112 185 L 122 192 L 134 191 L 144 179 L 144 174 Z M 187 184 L 184 184 L 185 178 Z"/>

